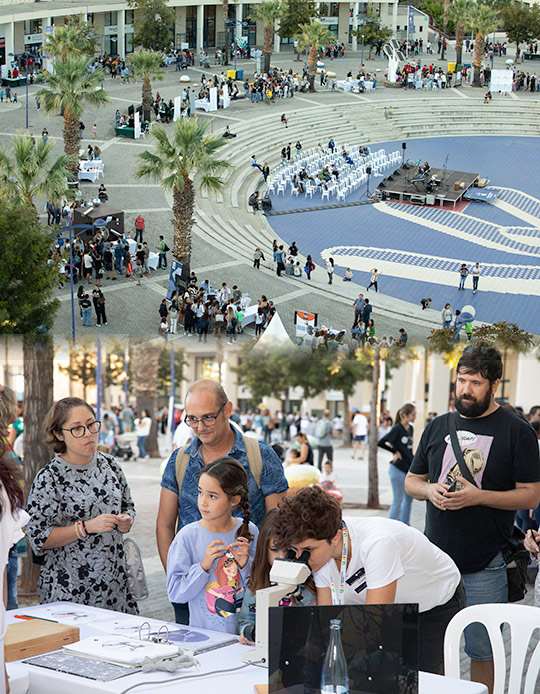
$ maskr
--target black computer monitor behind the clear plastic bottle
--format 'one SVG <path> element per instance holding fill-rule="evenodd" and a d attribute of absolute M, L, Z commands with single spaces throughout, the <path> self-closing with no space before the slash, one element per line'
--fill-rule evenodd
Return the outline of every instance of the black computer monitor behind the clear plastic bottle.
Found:
<path fill-rule="evenodd" d="M 271 607 L 269 694 L 320 694 L 334 619 L 341 622 L 349 694 L 418 694 L 416 604 Z"/>

